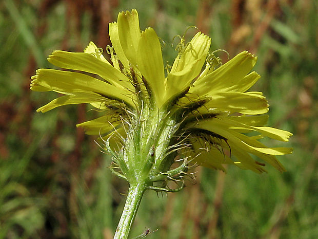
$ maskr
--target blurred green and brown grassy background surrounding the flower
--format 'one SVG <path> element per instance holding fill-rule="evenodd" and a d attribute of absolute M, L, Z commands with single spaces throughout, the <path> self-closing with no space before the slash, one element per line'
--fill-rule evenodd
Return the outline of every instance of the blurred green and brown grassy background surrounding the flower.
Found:
<path fill-rule="evenodd" d="M 146 192 L 131 236 L 150 227 L 158 230 L 149 238 L 318 238 L 316 0 L 2 0 L 0 239 L 112 238 L 128 185 L 75 127 L 95 113 L 86 105 L 36 113 L 56 95 L 29 84 L 37 68 L 52 67 L 52 50 L 82 51 L 89 41 L 105 49 L 108 23 L 132 8 L 141 29 L 153 27 L 166 42 L 169 62 L 173 36 L 190 25 L 211 36 L 211 50 L 257 54 L 262 79 L 253 90 L 269 100 L 269 125 L 294 133 L 284 144 L 294 153 L 279 158 L 283 174 L 197 168 L 180 193 Z"/>

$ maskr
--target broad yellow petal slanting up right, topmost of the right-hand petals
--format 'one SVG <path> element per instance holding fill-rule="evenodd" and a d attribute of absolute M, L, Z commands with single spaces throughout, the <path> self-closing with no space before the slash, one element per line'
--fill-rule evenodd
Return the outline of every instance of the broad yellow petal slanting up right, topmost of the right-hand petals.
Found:
<path fill-rule="evenodd" d="M 207 76 L 195 81 L 190 92 L 195 95 L 205 96 L 216 91 L 229 91 L 238 82 L 246 81 L 242 79 L 253 68 L 256 60 L 257 58 L 251 53 L 243 51 Z M 250 83 L 248 82 L 248 84 Z"/>

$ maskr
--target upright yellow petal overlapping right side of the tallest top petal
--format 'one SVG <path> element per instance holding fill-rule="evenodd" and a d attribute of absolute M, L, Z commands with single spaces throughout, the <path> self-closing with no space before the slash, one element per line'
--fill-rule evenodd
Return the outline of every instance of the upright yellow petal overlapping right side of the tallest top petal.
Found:
<path fill-rule="evenodd" d="M 156 102 L 160 105 L 165 90 L 165 69 L 161 45 L 157 34 L 152 28 L 147 28 L 142 33 L 138 46 L 137 65 L 147 84 L 151 87 Z"/>

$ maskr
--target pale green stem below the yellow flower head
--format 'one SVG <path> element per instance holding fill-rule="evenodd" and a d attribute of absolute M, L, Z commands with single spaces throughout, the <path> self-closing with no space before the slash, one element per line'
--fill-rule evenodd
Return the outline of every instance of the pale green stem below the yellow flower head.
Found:
<path fill-rule="evenodd" d="M 131 225 L 135 219 L 145 190 L 145 182 L 136 182 L 129 186 L 125 207 L 120 222 L 118 223 L 114 239 L 128 238 Z"/>

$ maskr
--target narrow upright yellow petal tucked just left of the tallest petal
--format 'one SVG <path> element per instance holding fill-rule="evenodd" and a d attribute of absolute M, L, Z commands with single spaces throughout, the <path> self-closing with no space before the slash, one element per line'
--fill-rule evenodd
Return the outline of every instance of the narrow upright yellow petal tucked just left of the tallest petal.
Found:
<path fill-rule="evenodd" d="M 125 56 L 123 47 L 121 45 L 119 34 L 118 34 L 118 25 L 116 22 L 109 24 L 109 37 L 110 37 L 111 43 L 113 44 L 118 60 L 122 62 L 123 66 L 126 69 L 129 69 L 129 61 L 127 57 Z"/>

